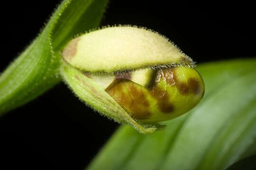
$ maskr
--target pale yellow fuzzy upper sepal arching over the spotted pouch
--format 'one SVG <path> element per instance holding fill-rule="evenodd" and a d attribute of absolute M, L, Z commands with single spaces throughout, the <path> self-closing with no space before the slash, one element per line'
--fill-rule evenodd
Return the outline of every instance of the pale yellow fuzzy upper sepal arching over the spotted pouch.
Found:
<path fill-rule="evenodd" d="M 193 67 L 192 59 L 173 42 L 155 32 L 128 26 L 83 34 L 69 42 L 62 55 L 73 67 L 91 73 L 174 64 Z"/>

